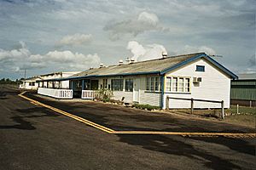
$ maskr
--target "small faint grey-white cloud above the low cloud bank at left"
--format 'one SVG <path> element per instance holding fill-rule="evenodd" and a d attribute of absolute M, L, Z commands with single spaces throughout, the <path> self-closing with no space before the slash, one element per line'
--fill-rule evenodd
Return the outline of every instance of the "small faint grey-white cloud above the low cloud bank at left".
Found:
<path fill-rule="evenodd" d="M 56 47 L 84 45 L 90 43 L 91 41 L 91 34 L 76 33 L 62 37 L 60 41 L 56 42 Z"/>

